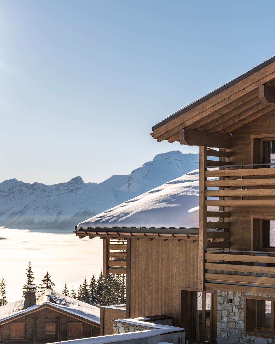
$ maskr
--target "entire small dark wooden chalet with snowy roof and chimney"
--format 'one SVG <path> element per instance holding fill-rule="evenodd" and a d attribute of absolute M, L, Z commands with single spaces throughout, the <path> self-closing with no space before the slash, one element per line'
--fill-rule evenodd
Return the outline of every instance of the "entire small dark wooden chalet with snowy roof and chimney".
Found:
<path fill-rule="evenodd" d="M 0 307 L 1 344 L 43 344 L 99 335 L 100 310 L 52 290 Z"/>

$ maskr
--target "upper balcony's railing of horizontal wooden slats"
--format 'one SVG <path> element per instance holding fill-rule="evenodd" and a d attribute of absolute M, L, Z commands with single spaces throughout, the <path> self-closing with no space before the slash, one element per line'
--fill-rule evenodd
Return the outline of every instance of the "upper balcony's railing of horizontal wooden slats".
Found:
<path fill-rule="evenodd" d="M 275 206 L 275 163 L 223 165 L 220 162 L 206 166 L 205 178 L 206 206 Z"/>

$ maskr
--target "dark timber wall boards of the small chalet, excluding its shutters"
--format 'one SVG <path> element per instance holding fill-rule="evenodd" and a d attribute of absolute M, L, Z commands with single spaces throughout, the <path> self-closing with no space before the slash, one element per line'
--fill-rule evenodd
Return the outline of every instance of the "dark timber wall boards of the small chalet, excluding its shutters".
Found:
<path fill-rule="evenodd" d="M 17 320 L 13 320 L 9 323 L 3 324 L 0 326 L 1 331 L 1 343 L 2 344 L 26 344 L 26 343 L 34 343 L 33 336 L 34 336 L 34 317 L 35 317 L 35 344 L 44 344 L 44 343 L 52 343 L 59 341 L 65 341 L 67 340 L 67 324 L 68 323 L 81 323 L 83 326 L 83 333 L 82 338 L 88 338 L 88 337 L 95 337 L 99 336 L 99 327 L 92 326 L 90 324 L 81 322 L 77 319 L 71 318 L 70 316 L 66 316 L 62 313 L 59 313 L 57 311 L 51 310 L 49 308 L 44 308 L 42 310 L 33 312 L 29 315 L 22 316 L 21 318 Z M 57 322 L 59 320 L 59 339 L 57 334 Z M 10 326 L 16 325 L 16 324 L 25 324 L 25 339 L 19 339 L 19 340 L 12 340 L 10 339 Z M 46 326 L 46 324 L 49 324 Z M 52 332 L 49 331 L 49 328 L 54 329 L 53 333 L 46 333 Z M 91 328 L 92 327 L 92 328 Z M 16 327 L 13 327 L 13 329 L 16 329 Z M 14 331 L 12 331 L 14 333 Z M 17 331 L 17 333 L 19 333 Z M 22 333 L 22 331 L 21 331 Z"/>

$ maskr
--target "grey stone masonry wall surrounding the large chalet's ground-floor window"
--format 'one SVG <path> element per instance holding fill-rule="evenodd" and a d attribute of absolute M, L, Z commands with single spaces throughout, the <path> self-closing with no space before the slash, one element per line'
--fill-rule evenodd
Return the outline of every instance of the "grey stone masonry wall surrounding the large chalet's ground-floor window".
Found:
<path fill-rule="evenodd" d="M 254 344 L 256 338 L 254 336 L 244 336 L 243 294 L 261 297 L 274 297 L 274 295 L 218 290 L 217 337 L 227 338 L 228 343 Z M 229 303 L 228 299 L 232 299 L 232 303 Z M 275 341 L 274 339 L 269 338 L 268 343 L 275 344 Z"/>

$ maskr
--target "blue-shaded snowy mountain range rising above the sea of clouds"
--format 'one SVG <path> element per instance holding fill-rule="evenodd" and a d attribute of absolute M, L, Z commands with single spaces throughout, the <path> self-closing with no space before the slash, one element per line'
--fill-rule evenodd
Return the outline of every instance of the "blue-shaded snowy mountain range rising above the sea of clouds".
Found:
<path fill-rule="evenodd" d="M 10 179 L 0 184 L 0 226 L 72 230 L 92 217 L 148 190 L 197 169 L 198 154 L 158 154 L 130 175 L 113 175 L 102 183 L 81 177 L 55 185 Z"/>

